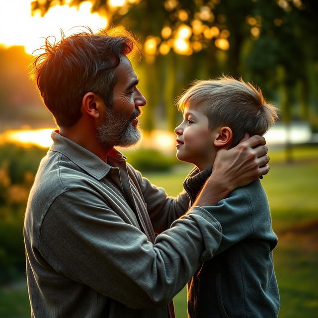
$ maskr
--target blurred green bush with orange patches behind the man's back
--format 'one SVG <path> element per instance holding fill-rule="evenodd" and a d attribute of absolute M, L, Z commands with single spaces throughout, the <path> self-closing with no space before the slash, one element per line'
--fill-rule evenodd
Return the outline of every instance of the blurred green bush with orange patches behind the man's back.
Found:
<path fill-rule="evenodd" d="M 0 146 L 0 283 L 25 271 L 23 217 L 29 189 L 46 150 Z"/>

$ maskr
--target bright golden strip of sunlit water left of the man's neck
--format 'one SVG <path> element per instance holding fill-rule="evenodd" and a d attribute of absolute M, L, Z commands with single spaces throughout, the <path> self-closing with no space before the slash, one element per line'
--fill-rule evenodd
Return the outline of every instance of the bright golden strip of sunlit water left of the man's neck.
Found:
<path fill-rule="evenodd" d="M 54 128 L 35 130 L 7 130 L 1 135 L 3 142 L 15 143 L 24 146 L 35 145 L 49 148 L 53 141 L 51 134 Z"/>

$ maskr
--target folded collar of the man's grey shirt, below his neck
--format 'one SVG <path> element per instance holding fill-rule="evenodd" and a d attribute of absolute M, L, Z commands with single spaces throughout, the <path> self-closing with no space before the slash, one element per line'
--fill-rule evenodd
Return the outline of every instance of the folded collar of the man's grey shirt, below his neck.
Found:
<path fill-rule="evenodd" d="M 87 149 L 60 135 L 58 130 L 53 131 L 51 137 L 53 139 L 53 145 L 50 148 L 50 151 L 63 154 L 95 179 L 102 179 L 111 169 L 113 169 L 112 166 Z M 126 159 L 114 148 L 110 151 L 108 156 L 115 160 Z"/>

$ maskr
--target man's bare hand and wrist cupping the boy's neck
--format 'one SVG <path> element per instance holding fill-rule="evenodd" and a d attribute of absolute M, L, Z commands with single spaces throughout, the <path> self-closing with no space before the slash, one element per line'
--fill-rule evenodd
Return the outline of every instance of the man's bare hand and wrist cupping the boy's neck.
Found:
<path fill-rule="evenodd" d="M 264 137 L 252 136 L 236 147 L 220 149 L 207 179 L 193 206 L 213 206 L 236 188 L 249 184 L 269 171 Z"/>

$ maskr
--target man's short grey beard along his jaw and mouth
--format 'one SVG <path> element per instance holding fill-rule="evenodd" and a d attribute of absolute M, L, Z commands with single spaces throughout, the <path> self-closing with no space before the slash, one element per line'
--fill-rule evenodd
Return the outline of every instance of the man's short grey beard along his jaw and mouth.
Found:
<path fill-rule="evenodd" d="M 142 133 L 131 124 L 131 120 L 139 114 L 140 110 L 135 109 L 132 116 L 127 119 L 121 113 L 108 109 L 104 122 L 97 127 L 99 142 L 107 147 L 135 145 L 141 139 Z"/>

